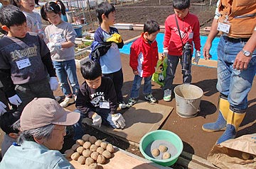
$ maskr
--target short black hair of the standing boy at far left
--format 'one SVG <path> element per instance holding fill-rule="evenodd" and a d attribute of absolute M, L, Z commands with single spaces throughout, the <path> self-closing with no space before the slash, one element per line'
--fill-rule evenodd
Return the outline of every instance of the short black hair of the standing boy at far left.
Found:
<path fill-rule="evenodd" d="M 14 25 L 23 25 L 26 23 L 26 16 L 16 6 L 2 6 L 0 8 L 0 23 L 8 28 Z"/>

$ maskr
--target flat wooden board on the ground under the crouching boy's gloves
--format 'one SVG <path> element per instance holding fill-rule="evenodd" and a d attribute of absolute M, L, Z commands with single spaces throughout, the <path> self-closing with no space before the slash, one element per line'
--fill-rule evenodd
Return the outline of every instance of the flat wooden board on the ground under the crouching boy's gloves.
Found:
<path fill-rule="evenodd" d="M 119 136 L 123 140 L 127 140 L 127 142 L 132 141 L 139 144 L 142 136 L 148 132 L 159 129 L 173 109 L 174 107 L 159 104 L 151 105 L 143 100 L 138 100 L 135 105 L 130 107 L 123 114 L 126 124 L 124 129 L 112 129 L 112 127 L 103 125 L 96 129 L 107 134 Z M 89 125 L 92 124 L 92 122 L 88 122 L 88 120 L 83 120 L 83 122 Z"/>

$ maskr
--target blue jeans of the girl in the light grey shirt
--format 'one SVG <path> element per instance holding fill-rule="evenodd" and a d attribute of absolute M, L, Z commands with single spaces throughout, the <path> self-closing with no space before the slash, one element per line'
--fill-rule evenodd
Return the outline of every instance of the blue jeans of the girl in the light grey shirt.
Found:
<path fill-rule="evenodd" d="M 73 95 L 78 95 L 79 83 L 76 74 L 75 59 L 64 62 L 53 61 L 53 66 L 58 76 L 58 80 L 60 81 L 60 88 L 63 91 L 63 94 L 65 96 L 71 94 L 70 86 L 68 84 L 69 81 L 73 90 Z"/>

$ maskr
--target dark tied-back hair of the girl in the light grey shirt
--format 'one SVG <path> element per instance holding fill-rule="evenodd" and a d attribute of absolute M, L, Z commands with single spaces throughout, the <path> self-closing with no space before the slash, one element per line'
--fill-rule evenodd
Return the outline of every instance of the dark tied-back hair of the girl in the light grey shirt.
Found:
<path fill-rule="evenodd" d="M 56 14 L 62 13 L 65 16 L 65 6 L 62 1 L 49 1 L 46 2 L 44 6 L 41 8 L 41 16 L 44 20 L 48 21 L 46 16 L 46 12 L 54 12 Z"/>

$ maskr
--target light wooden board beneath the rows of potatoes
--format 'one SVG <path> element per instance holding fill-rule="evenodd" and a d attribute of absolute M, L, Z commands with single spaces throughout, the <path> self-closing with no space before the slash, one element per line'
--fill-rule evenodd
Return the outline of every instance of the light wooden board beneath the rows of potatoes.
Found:
<path fill-rule="evenodd" d="M 122 169 L 157 169 L 157 168 L 167 168 L 161 165 L 157 165 L 156 163 L 152 164 L 151 161 L 142 161 L 136 156 L 129 156 L 129 153 L 124 153 L 124 151 L 120 151 L 119 148 L 115 148 L 116 152 L 114 152 L 114 157 L 110 158 L 106 164 L 100 164 L 100 168 L 104 169 L 113 169 L 113 168 L 122 168 Z M 87 165 L 81 165 L 78 161 L 73 161 L 68 159 L 70 163 L 75 167 L 75 169 L 87 169 L 89 168 Z"/>

